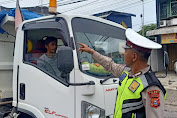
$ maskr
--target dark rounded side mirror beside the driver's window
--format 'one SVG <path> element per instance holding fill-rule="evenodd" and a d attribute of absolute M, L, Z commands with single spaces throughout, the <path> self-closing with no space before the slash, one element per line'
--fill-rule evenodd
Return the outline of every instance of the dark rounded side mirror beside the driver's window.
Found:
<path fill-rule="evenodd" d="M 71 47 L 61 46 L 57 55 L 57 67 L 63 73 L 70 73 L 74 68 L 73 50 Z"/>

